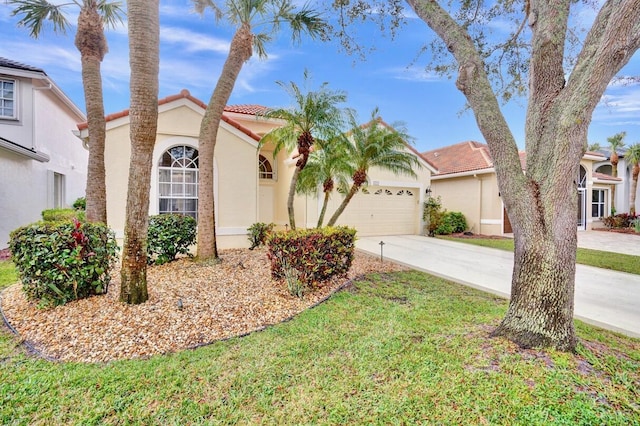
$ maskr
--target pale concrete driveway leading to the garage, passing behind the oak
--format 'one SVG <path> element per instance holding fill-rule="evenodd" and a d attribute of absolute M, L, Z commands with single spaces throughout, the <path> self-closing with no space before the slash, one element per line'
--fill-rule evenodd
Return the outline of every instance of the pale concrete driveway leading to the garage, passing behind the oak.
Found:
<path fill-rule="evenodd" d="M 380 241 L 385 243 L 385 259 L 506 298 L 511 294 L 511 252 L 419 235 L 362 237 L 356 247 L 380 256 Z M 576 265 L 574 314 L 584 322 L 640 337 L 640 275 Z"/>

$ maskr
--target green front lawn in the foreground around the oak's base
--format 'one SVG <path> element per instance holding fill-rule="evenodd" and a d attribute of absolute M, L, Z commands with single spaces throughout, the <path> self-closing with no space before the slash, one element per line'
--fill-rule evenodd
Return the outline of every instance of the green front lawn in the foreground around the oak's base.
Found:
<path fill-rule="evenodd" d="M 639 340 L 577 323 L 576 354 L 519 349 L 488 337 L 506 306 L 372 275 L 263 332 L 104 365 L 29 356 L 0 330 L 0 424 L 640 424 Z"/>

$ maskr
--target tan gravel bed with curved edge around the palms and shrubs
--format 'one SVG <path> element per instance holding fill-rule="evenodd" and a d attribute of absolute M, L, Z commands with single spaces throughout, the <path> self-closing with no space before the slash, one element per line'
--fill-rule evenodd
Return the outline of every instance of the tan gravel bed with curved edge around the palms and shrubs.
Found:
<path fill-rule="evenodd" d="M 286 283 L 271 279 L 264 249 L 225 250 L 221 258 L 217 265 L 181 259 L 150 267 L 149 300 L 141 305 L 118 301 L 120 274 L 114 270 L 103 296 L 39 309 L 15 284 L 0 295 L 0 307 L 20 338 L 45 358 L 108 362 L 241 336 L 315 306 L 356 276 L 405 269 L 356 253 L 347 277 L 332 279 L 299 299 L 289 295 Z"/>

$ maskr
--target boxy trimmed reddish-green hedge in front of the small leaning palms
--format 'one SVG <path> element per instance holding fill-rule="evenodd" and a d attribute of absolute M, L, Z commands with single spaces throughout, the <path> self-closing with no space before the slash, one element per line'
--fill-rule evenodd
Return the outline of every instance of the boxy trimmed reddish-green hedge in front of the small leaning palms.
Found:
<path fill-rule="evenodd" d="M 355 240 L 356 230 L 343 226 L 273 232 L 267 239 L 271 276 L 285 278 L 286 269 L 293 268 L 300 281 L 312 285 L 345 274 L 353 262 Z"/>

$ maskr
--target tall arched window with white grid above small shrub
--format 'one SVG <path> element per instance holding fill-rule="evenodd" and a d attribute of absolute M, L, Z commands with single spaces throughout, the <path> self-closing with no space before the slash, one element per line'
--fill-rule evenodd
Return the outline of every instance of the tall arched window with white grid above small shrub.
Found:
<path fill-rule="evenodd" d="M 160 214 L 198 218 L 198 150 L 186 145 L 169 148 L 158 163 Z"/>

